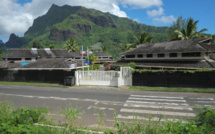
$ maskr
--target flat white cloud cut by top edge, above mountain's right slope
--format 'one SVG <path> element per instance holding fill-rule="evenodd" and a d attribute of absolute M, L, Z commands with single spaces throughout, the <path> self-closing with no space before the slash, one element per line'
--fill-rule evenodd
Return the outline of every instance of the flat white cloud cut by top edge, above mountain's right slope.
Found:
<path fill-rule="evenodd" d="M 160 7 L 163 5 L 162 0 L 119 0 L 124 7 L 131 6 L 134 8 L 151 8 Z"/>

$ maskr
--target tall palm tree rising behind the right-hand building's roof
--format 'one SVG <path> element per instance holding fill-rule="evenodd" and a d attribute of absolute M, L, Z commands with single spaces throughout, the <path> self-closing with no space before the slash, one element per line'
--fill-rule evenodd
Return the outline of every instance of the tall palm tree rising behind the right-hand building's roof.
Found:
<path fill-rule="evenodd" d="M 207 29 L 201 29 L 200 31 L 197 31 L 198 22 L 199 21 L 194 21 L 192 18 L 189 18 L 186 21 L 186 24 L 183 25 L 181 29 L 175 30 L 175 33 L 177 34 L 178 39 L 184 40 L 184 39 L 204 37 L 202 32 L 207 31 Z"/>

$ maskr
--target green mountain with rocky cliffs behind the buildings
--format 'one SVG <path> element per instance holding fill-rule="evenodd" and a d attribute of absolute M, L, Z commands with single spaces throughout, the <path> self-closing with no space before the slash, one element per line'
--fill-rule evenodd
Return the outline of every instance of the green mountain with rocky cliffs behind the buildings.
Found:
<path fill-rule="evenodd" d="M 49 11 L 34 20 L 24 37 L 11 34 L 6 43 L 8 48 L 29 48 L 33 40 L 39 40 L 44 47 L 63 44 L 74 38 L 79 46 L 93 49 L 106 47 L 108 53 L 117 55 L 127 43 L 135 42 L 133 36 L 148 32 L 158 42 L 168 41 L 168 27 L 155 27 L 139 24 L 128 18 L 120 18 L 81 6 L 52 5 Z"/>

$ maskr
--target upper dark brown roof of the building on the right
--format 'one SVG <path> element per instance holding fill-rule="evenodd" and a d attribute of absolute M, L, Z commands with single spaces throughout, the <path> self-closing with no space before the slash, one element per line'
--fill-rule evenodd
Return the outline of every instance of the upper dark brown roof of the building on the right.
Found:
<path fill-rule="evenodd" d="M 205 52 L 209 51 L 209 47 L 203 47 L 200 43 L 204 43 L 210 38 L 177 40 L 170 42 L 160 42 L 151 44 L 141 44 L 137 48 L 121 53 L 121 55 L 131 55 L 138 53 L 175 53 L 175 52 Z"/>

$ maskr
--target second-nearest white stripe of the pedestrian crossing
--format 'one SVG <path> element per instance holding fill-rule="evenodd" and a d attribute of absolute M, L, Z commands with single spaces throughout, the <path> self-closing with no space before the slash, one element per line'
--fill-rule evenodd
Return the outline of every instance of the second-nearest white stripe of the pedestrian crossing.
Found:
<path fill-rule="evenodd" d="M 120 112 L 195 117 L 194 113 L 181 113 L 181 112 L 168 112 L 168 111 L 152 111 L 152 110 L 140 110 L 140 109 L 125 109 L 125 108 L 122 108 L 120 110 Z"/>

